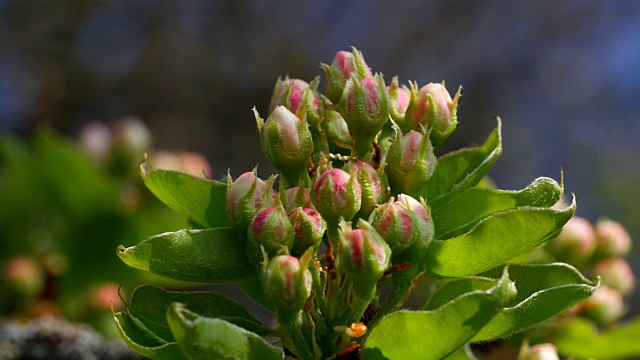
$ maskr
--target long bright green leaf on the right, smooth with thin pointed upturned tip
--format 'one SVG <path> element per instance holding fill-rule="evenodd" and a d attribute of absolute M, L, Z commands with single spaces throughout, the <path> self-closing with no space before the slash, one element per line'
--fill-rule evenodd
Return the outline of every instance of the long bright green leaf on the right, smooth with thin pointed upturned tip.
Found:
<path fill-rule="evenodd" d="M 563 210 L 524 206 L 495 213 L 466 234 L 434 240 L 427 252 L 427 275 L 464 277 L 504 264 L 557 236 L 575 210 L 574 199 Z"/>

